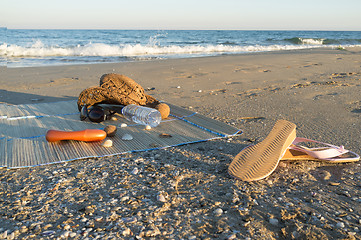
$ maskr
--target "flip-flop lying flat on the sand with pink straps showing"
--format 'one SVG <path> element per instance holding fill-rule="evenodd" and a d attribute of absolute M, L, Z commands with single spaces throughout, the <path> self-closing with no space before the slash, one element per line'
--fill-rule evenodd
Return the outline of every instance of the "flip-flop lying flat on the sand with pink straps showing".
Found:
<path fill-rule="evenodd" d="M 303 146 L 300 143 L 312 143 L 322 145 L 322 147 L 311 148 Z M 281 160 L 314 160 L 330 163 L 346 163 L 356 162 L 360 160 L 360 156 L 346 150 L 343 146 L 338 147 L 328 143 L 296 137 Z"/>

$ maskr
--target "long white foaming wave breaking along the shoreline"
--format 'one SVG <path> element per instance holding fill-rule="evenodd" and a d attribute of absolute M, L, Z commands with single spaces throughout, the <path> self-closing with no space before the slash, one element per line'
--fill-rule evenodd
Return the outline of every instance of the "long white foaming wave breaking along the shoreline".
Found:
<path fill-rule="evenodd" d="M 37 41 L 30 47 L 18 45 L 0 45 L 0 56 L 8 58 L 22 57 L 57 57 L 57 56 L 103 56 L 103 57 L 133 57 L 133 56 L 159 56 L 159 55 L 187 55 L 187 54 L 213 54 L 213 53 L 244 53 L 264 52 L 310 48 L 306 45 L 186 45 L 186 46 L 159 46 L 159 45 L 109 45 L 104 43 L 89 43 L 72 47 L 45 46 Z"/>

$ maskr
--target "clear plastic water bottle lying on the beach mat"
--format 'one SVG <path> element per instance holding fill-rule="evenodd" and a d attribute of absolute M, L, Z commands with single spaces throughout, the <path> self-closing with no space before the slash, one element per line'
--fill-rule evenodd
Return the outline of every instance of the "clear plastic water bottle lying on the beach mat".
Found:
<path fill-rule="evenodd" d="M 123 116 L 135 123 L 156 127 L 162 120 L 157 109 L 130 104 L 122 109 Z"/>

